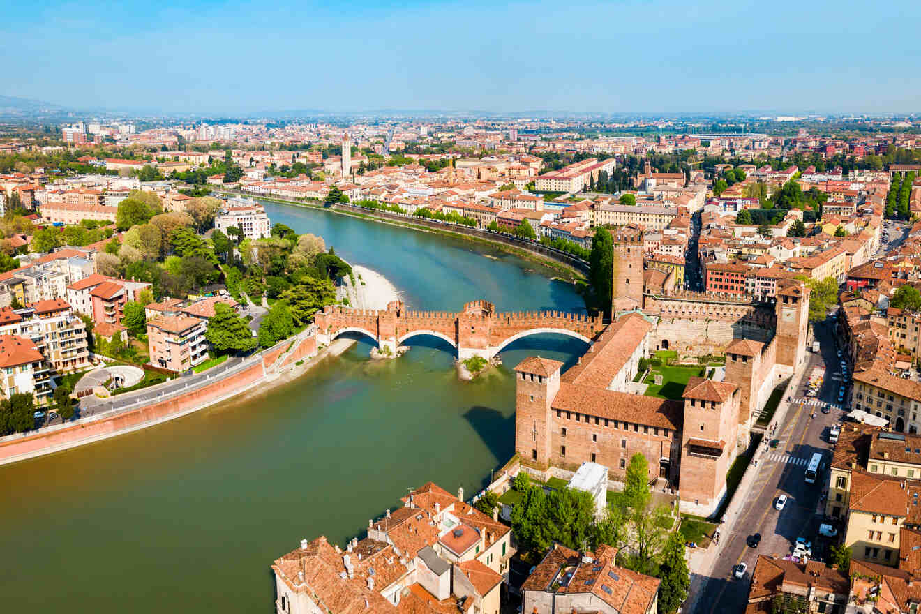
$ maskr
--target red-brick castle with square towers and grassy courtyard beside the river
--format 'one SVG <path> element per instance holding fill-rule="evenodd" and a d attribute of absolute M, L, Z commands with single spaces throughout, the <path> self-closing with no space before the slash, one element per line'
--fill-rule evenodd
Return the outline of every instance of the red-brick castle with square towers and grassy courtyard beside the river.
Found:
<path fill-rule="evenodd" d="M 615 481 L 641 452 L 650 482 L 677 487 L 682 512 L 709 516 L 726 495 L 726 473 L 749 444 L 757 410 L 805 361 L 810 290 L 790 282 L 773 305 L 649 295 L 641 237 L 615 239 L 613 263 L 614 319 L 578 364 L 562 373 L 562 363 L 530 357 L 515 367 L 516 452 L 537 471 L 598 462 Z M 629 391 L 640 358 L 687 348 L 725 352 L 725 376 L 691 378 L 682 400 Z"/>

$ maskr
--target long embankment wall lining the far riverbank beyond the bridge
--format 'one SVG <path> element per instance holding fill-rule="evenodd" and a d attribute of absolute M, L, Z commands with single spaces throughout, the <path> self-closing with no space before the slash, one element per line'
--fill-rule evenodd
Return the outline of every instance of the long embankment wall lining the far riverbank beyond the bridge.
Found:
<path fill-rule="evenodd" d="M 529 241 L 511 235 L 505 235 L 502 233 L 492 232 L 489 230 L 483 230 L 481 228 L 449 224 L 446 222 L 439 222 L 438 220 L 430 220 L 424 217 L 416 217 L 414 215 L 397 214 L 390 211 L 381 211 L 379 209 L 368 209 L 366 207 L 359 207 L 354 204 L 335 203 L 330 206 L 326 206 L 320 201 L 289 201 L 272 196 L 259 196 L 229 190 L 216 190 L 216 192 L 233 196 L 247 196 L 249 198 L 254 198 L 260 201 L 268 201 L 270 203 L 289 204 L 297 207 L 309 207 L 310 209 L 321 209 L 323 211 L 328 211 L 334 214 L 351 215 L 353 217 L 369 219 L 374 222 L 379 222 L 380 224 L 402 226 L 412 230 L 417 230 L 419 232 L 433 232 L 449 235 L 451 237 L 459 237 L 465 240 L 480 241 L 483 243 L 488 243 L 497 249 L 502 249 L 503 251 L 519 256 L 520 258 L 530 261 L 537 261 L 544 266 L 549 266 L 557 271 L 566 272 L 571 278 L 585 275 L 589 272 L 588 261 L 583 261 L 582 259 L 577 258 L 572 254 L 566 253 L 565 251 L 545 246 L 542 243 Z M 575 281 L 575 279 L 570 279 L 569 281 Z"/>

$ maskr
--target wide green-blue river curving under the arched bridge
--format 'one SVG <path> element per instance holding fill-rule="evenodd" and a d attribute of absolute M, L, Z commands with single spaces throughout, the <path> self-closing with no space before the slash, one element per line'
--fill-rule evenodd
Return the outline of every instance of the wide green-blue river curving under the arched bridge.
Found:
<path fill-rule="evenodd" d="M 321 235 L 412 308 L 584 311 L 552 272 L 489 247 L 295 206 L 274 223 Z M 492 258 L 487 258 L 491 256 Z M 10 612 L 271 612 L 269 565 L 301 538 L 344 544 L 436 481 L 478 491 L 514 449 L 510 367 L 571 364 L 584 345 L 534 336 L 460 382 L 451 348 L 415 337 L 392 361 L 359 341 L 308 375 L 134 434 L 0 468 L 0 602 Z"/>

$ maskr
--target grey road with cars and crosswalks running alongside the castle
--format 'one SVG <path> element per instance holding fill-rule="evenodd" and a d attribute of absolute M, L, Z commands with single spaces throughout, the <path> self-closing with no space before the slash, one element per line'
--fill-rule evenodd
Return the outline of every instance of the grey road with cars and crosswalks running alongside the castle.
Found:
<path fill-rule="evenodd" d="M 835 403 L 842 373 L 832 324 L 819 324 L 816 339 L 821 344 L 822 355 L 808 353 L 805 373 L 823 362 L 828 365 L 820 398 Z M 806 380 L 804 378 L 802 386 L 796 391 L 794 400 L 804 396 Z M 812 412 L 815 418 L 810 418 Z M 826 463 L 831 458 L 832 445 L 828 442 L 828 433 L 832 424 L 840 422 L 844 413 L 833 409 L 825 414 L 814 406 L 793 403 L 787 412 L 786 422 L 775 434 L 780 444 L 775 449 L 762 446 L 756 457 L 760 460 L 752 490 L 747 503 L 738 512 L 738 521 L 733 523 L 732 531 L 721 536 L 722 550 L 713 570 L 707 574 L 708 577 L 698 575 L 698 582 L 692 585 L 693 588 L 696 585 L 700 595 L 689 596 L 688 603 L 694 604 L 697 614 L 743 611 L 758 554 L 783 556 L 792 550 L 792 544 L 798 537 L 805 537 L 812 541 L 813 556 L 822 558 L 823 544 L 817 539 L 817 513 L 823 514 L 819 498 L 826 489 L 827 477 L 820 475 L 814 484 L 806 483 L 803 478 L 805 466 L 813 453 L 821 452 Z M 786 494 L 789 499 L 783 511 L 777 511 L 774 505 L 780 494 Z M 757 548 L 752 549 L 746 545 L 746 539 L 754 533 L 761 533 L 762 540 Z M 748 564 L 748 572 L 744 579 L 737 580 L 732 576 L 732 570 L 740 562 Z"/>

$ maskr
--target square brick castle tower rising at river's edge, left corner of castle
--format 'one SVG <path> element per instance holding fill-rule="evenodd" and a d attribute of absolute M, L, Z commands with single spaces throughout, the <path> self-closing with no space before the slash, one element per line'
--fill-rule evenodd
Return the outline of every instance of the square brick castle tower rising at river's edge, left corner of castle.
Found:
<path fill-rule="evenodd" d="M 563 363 L 540 356 L 515 367 L 515 451 L 524 462 L 546 468 L 553 427 L 550 405 L 560 389 Z"/>

